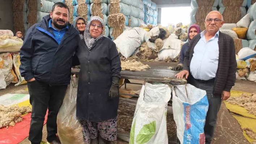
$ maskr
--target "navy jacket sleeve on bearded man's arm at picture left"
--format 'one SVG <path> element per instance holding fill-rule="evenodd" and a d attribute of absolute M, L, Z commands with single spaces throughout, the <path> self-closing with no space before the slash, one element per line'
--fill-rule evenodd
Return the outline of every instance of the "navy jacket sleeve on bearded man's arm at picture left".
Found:
<path fill-rule="evenodd" d="M 20 73 L 25 80 L 34 78 L 31 68 L 31 59 L 34 53 L 34 42 L 33 42 L 33 30 L 34 26 L 27 30 L 23 45 L 20 51 Z"/>

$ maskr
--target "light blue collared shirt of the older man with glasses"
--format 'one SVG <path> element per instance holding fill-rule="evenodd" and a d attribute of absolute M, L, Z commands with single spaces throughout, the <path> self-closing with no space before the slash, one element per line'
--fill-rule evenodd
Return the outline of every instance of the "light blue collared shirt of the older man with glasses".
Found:
<path fill-rule="evenodd" d="M 201 32 L 201 39 L 194 48 L 190 71 L 195 79 L 209 80 L 216 77 L 219 63 L 219 31 L 206 42 L 206 30 Z"/>

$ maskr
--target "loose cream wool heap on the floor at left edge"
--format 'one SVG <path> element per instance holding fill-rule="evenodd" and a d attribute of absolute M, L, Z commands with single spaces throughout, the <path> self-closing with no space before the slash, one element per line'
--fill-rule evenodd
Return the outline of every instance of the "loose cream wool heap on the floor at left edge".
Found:
<path fill-rule="evenodd" d="M 15 123 L 22 121 L 22 114 L 31 113 L 29 106 L 22 106 L 21 108 L 15 106 L 0 105 L 0 128 L 14 126 Z"/>

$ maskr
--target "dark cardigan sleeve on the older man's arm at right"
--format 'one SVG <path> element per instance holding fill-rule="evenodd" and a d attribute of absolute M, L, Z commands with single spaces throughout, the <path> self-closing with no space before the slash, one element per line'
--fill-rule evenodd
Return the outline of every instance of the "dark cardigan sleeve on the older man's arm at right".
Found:
<path fill-rule="evenodd" d="M 235 43 L 234 40 L 230 40 L 230 60 L 229 60 L 229 74 L 227 76 L 227 82 L 226 86 L 224 88 L 224 91 L 230 92 L 232 86 L 235 85 L 236 80 L 236 58 L 235 58 Z"/>

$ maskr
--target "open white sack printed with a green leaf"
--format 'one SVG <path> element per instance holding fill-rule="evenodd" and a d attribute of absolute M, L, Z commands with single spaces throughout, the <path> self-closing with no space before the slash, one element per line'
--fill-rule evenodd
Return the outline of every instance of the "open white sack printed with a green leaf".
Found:
<path fill-rule="evenodd" d="M 129 144 L 168 144 L 166 116 L 171 88 L 166 84 L 142 86 Z"/>

